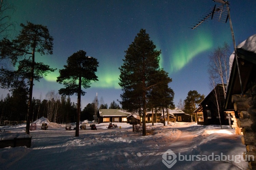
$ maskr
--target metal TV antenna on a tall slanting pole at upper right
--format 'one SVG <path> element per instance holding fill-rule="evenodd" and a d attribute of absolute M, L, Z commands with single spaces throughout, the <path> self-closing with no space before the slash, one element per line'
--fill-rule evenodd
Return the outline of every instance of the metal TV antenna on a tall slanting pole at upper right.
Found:
<path fill-rule="evenodd" d="M 230 9 L 229 9 L 229 2 L 224 1 L 224 0 L 213 0 L 214 2 L 218 2 L 220 4 L 215 4 L 210 11 L 208 11 L 206 14 L 203 15 L 203 18 L 199 21 L 198 23 L 193 26 L 191 29 L 196 29 L 199 28 L 199 25 L 204 23 L 204 21 L 207 21 L 207 19 L 211 18 L 212 20 L 216 20 L 219 22 L 227 22 L 229 19 L 229 25 L 230 25 L 230 30 L 231 30 L 231 35 L 232 35 L 232 40 L 233 40 L 233 45 L 234 45 L 234 55 L 236 58 L 236 63 L 237 63 L 237 70 L 238 70 L 238 76 L 239 76 L 239 81 L 240 81 L 240 87 L 241 87 L 241 94 L 244 95 L 243 93 L 243 86 L 242 86 L 242 80 L 240 76 L 240 70 L 239 70 L 239 64 L 238 64 L 238 56 L 237 56 L 237 47 L 236 47 L 236 42 L 234 39 L 234 32 L 233 32 L 233 27 L 232 27 L 232 22 L 230 18 Z"/>

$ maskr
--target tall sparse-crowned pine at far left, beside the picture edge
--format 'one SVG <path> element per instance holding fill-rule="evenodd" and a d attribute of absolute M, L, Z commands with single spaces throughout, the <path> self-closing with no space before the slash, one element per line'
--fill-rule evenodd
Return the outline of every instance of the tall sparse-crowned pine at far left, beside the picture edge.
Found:
<path fill-rule="evenodd" d="M 28 112 L 26 133 L 29 134 L 30 120 L 33 109 L 32 93 L 33 82 L 39 81 L 43 76 L 56 69 L 50 68 L 41 62 L 35 61 L 37 54 L 43 56 L 53 54 L 53 37 L 50 36 L 47 27 L 34 25 L 27 22 L 27 25 L 20 24 L 22 30 L 16 39 L 10 41 L 4 38 L 0 42 L 1 59 L 8 59 L 13 67 L 17 65 L 16 70 L 2 68 L 0 70 L 1 88 L 18 89 L 27 88 L 28 90 Z"/>

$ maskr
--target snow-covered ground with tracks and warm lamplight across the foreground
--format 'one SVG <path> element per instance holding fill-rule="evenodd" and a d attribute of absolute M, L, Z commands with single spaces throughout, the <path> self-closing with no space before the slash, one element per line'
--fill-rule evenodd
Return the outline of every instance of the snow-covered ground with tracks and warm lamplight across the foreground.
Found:
<path fill-rule="evenodd" d="M 35 123 L 37 130 L 30 131 L 31 148 L 0 149 L 0 169 L 120 170 L 168 169 L 169 166 L 170 169 L 230 170 L 248 167 L 248 163 L 241 160 L 242 152 L 246 151 L 241 136 L 227 126 L 221 129 L 217 125 L 203 126 L 195 122 L 175 122 L 167 126 L 155 123 L 155 134 L 142 136 L 132 132 L 132 125 L 127 123 L 117 123 L 118 128 L 113 129 L 106 128 L 108 123 L 101 123 L 96 125 L 97 130 L 80 130 L 79 137 L 75 137 L 75 130 L 65 130 L 65 125 L 42 118 Z M 41 130 L 41 123 L 48 123 L 48 129 Z M 5 129 L 4 133 L 23 135 L 25 127 L 22 124 L 0 126 L 0 129 Z"/>

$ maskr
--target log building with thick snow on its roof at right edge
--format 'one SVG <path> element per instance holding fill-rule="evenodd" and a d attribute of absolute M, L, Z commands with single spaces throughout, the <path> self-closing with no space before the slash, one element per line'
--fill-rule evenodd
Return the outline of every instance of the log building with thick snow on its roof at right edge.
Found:
<path fill-rule="evenodd" d="M 248 155 L 256 158 L 256 34 L 238 45 L 233 60 L 227 87 L 224 108 L 231 114 L 236 134 L 241 134 L 246 146 L 244 159 Z M 239 154 L 239 153 L 238 153 Z M 246 156 L 245 156 L 246 155 Z M 249 162 L 250 169 L 256 169 L 256 162 Z"/>

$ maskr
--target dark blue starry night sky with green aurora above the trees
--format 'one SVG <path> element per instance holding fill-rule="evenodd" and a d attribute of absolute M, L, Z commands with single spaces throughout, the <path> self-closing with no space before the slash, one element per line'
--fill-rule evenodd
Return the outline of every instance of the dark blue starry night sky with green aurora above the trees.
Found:
<path fill-rule="evenodd" d="M 125 50 L 140 29 L 146 29 L 157 49 L 161 49 L 160 67 L 172 78 L 174 104 L 187 97 L 189 90 L 208 95 L 207 73 L 209 55 L 224 42 L 233 51 L 232 37 L 227 23 L 208 19 L 197 30 L 190 29 L 215 4 L 212 0 L 8 0 L 16 6 L 12 21 L 26 21 L 47 26 L 54 38 L 53 55 L 37 56 L 57 71 L 35 82 L 33 96 L 41 99 L 51 90 L 58 92 L 63 85 L 56 82 L 59 69 L 73 53 L 84 50 L 87 56 L 99 61 L 99 81 L 84 89 L 82 109 L 92 103 L 96 93 L 104 104 L 120 100 L 118 85 Z M 256 34 L 256 1 L 230 0 L 230 14 L 237 45 Z M 1 90 L 3 97 L 8 90 Z M 76 103 L 76 97 L 71 97 Z"/>

